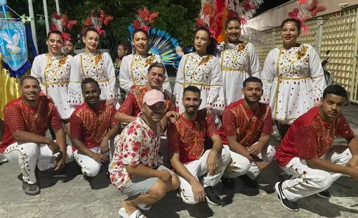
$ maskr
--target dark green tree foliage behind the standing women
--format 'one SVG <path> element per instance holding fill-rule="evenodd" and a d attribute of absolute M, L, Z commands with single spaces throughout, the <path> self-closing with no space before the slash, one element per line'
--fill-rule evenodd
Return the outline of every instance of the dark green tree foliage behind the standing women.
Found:
<path fill-rule="evenodd" d="M 60 0 L 60 11 L 66 13 L 69 19 L 79 21 L 74 30 L 79 34 L 84 28 L 84 20 L 91 15 L 93 10 L 102 9 L 106 14 L 112 15 L 114 20 L 109 27 L 103 27 L 107 34 L 105 37 L 106 47 L 112 49 L 117 41 L 129 37 L 128 25 L 133 23 L 139 8 L 147 7 L 151 12 L 159 12 L 155 19 L 154 28 L 166 30 L 180 41 L 182 46 L 190 46 L 194 41 L 194 18 L 200 10 L 200 0 Z M 8 5 L 18 14 L 29 14 L 27 0 L 11 0 Z M 44 15 L 41 0 L 33 0 L 34 14 Z M 55 1 L 48 0 L 48 15 L 56 11 Z M 16 17 L 16 15 L 15 15 Z M 35 18 L 35 22 L 39 17 Z M 51 20 L 49 20 L 51 22 Z M 46 47 L 46 27 L 37 25 L 37 38 L 39 47 Z M 40 50 L 40 48 L 39 48 Z"/>

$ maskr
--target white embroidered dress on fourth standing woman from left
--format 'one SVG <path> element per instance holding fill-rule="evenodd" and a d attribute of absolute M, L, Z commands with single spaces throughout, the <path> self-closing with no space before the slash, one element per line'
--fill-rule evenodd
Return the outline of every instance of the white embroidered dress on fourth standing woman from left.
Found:
<path fill-rule="evenodd" d="M 180 60 L 173 94 L 175 110 L 179 113 L 185 111 L 182 101 L 187 86 L 197 86 L 201 90 L 199 109 L 224 110 L 223 74 L 218 58 L 188 53 Z"/>

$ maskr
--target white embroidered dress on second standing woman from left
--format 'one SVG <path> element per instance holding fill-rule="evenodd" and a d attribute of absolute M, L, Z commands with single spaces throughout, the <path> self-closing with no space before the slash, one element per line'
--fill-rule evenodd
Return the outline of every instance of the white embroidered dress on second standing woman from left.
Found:
<path fill-rule="evenodd" d="M 100 100 L 117 98 L 116 75 L 110 55 L 101 53 L 80 53 L 72 60 L 71 79 L 69 82 L 69 103 L 84 103 L 81 82 L 91 77 L 100 84 Z"/>

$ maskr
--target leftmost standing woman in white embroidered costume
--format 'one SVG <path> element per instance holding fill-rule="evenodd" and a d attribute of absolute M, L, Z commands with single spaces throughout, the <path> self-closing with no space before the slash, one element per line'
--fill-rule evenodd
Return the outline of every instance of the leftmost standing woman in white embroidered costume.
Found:
<path fill-rule="evenodd" d="M 61 52 L 62 33 L 58 30 L 48 32 L 46 44 L 48 53 L 34 59 L 31 75 L 39 80 L 41 93 L 48 96 L 58 110 L 66 132 L 69 131 L 69 117 L 73 108 L 68 103 L 68 85 L 72 56 Z"/>

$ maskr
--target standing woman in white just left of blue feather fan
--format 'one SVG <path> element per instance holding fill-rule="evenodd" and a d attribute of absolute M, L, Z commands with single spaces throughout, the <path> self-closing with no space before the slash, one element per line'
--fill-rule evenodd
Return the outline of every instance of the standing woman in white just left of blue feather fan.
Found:
<path fill-rule="evenodd" d="M 161 63 L 158 55 L 148 53 L 149 36 L 147 30 L 137 29 L 132 34 L 132 44 L 134 54 L 125 56 L 122 59 L 121 69 L 119 70 L 119 86 L 128 95 L 131 89 L 141 89 L 147 86 L 147 73 L 149 66 L 154 62 Z M 165 73 L 165 80 L 162 87 L 168 96 L 171 96 L 171 84 L 168 74 Z"/>

